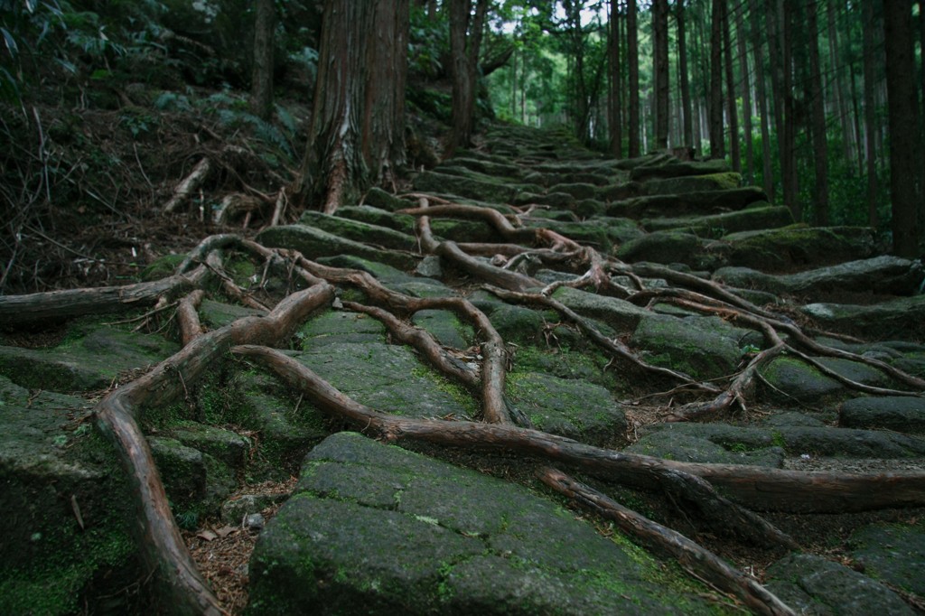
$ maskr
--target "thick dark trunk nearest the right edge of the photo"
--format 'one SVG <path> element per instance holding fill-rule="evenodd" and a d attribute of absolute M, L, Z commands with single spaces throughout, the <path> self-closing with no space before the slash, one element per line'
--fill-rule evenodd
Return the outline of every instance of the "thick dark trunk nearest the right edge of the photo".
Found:
<path fill-rule="evenodd" d="M 886 89 L 890 125 L 890 194 L 893 202 L 893 252 L 919 257 L 919 203 L 917 203 L 918 104 L 914 81 L 912 8 L 906 2 L 883 1 L 886 50 Z"/>

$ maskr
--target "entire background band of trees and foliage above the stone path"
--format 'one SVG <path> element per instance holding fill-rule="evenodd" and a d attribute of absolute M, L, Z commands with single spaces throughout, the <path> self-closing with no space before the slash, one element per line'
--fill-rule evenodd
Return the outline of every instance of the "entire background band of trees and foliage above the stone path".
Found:
<path fill-rule="evenodd" d="M 190 5 L 216 11 L 212 25 L 228 29 L 219 38 L 253 41 L 231 45 L 240 57 L 220 68 L 209 59 L 190 70 L 226 84 L 234 73 L 250 86 L 257 117 L 272 114 L 280 57 L 313 65 L 309 143 L 292 186 L 302 206 L 331 212 L 392 179 L 406 162 L 406 93 L 420 105 L 423 90 L 443 83 L 452 107 L 444 154 L 469 145 L 477 119 L 493 114 L 566 125 L 617 156 L 724 157 L 796 220 L 881 228 L 895 253 L 917 257 L 923 2 L 12 0 L 0 3 L 0 92 L 19 100 L 29 56 L 36 65 L 56 33 L 63 42 L 51 53 L 62 66 L 78 69 L 60 57 L 70 44 L 106 67 L 91 67 L 92 79 L 115 73 L 109 58 L 120 53 L 174 44 L 163 43 L 167 30 L 154 20 L 177 31 L 171 41 L 188 41 L 194 32 L 169 16 Z M 232 15 L 235 7 L 243 10 Z"/>

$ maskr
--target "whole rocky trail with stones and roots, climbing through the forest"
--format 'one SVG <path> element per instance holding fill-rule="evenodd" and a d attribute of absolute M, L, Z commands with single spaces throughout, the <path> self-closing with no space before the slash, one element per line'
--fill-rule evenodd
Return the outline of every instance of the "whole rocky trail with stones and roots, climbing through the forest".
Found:
<path fill-rule="evenodd" d="M 0 612 L 922 610 L 922 265 L 739 183 L 495 127 L 0 298 Z"/>

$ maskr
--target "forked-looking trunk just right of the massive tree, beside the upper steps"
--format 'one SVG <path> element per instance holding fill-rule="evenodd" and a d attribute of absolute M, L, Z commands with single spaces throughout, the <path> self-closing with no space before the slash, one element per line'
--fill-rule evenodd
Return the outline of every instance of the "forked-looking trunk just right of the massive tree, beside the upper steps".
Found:
<path fill-rule="evenodd" d="M 487 0 L 450 0 L 450 54 L 453 78 L 453 132 L 447 155 L 472 142 L 475 125 L 475 93 L 478 53 L 482 45 Z"/>

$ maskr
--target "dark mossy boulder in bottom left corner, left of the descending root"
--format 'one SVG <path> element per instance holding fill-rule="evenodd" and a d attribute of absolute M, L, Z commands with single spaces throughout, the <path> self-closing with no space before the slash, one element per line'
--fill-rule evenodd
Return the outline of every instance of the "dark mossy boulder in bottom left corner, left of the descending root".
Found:
<path fill-rule="evenodd" d="M 143 611 L 128 474 L 90 404 L 0 376 L 0 416 L 0 613 Z"/>

